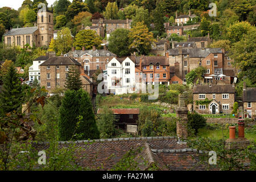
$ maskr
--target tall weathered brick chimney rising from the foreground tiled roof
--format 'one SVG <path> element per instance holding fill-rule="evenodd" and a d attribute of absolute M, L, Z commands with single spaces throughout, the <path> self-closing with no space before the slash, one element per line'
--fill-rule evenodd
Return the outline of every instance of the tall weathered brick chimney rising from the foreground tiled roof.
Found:
<path fill-rule="evenodd" d="M 179 94 L 176 115 L 179 120 L 176 122 L 177 137 L 186 139 L 188 137 L 188 108 L 185 105 L 185 96 Z"/>

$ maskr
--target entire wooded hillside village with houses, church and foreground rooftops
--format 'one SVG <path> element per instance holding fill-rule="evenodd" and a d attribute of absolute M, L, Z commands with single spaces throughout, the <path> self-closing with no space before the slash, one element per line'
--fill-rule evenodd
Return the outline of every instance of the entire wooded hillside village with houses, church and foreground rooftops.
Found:
<path fill-rule="evenodd" d="M 255 2 L 182 2 L 0 8 L 0 144 L 55 143 L 56 170 L 255 170 Z M 1 170 L 55 165 L 5 147 Z"/>

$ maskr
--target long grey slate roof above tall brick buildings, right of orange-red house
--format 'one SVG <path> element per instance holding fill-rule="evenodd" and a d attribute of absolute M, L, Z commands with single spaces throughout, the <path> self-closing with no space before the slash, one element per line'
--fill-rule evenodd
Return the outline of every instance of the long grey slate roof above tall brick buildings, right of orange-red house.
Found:
<path fill-rule="evenodd" d="M 169 55 L 179 55 L 179 48 L 169 49 Z M 206 57 L 210 53 L 222 53 L 221 48 L 182 48 L 183 55 L 189 55 L 189 57 Z"/>

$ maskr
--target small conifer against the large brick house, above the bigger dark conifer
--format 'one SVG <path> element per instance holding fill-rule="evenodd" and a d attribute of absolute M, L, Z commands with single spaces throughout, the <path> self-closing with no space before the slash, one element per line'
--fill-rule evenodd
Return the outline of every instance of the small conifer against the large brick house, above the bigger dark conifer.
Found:
<path fill-rule="evenodd" d="M 80 78 L 79 70 L 71 66 L 68 70 L 68 77 L 66 78 L 65 88 L 69 90 L 79 90 L 82 88 L 82 80 Z"/>

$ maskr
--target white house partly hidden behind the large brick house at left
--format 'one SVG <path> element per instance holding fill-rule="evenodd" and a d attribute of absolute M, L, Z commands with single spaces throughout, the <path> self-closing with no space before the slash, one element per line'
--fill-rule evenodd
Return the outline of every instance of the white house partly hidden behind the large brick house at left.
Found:
<path fill-rule="evenodd" d="M 40 69 L 39 65 L 44 63 L 49 58 L 49 55 L 40 56 L 33 61 L 33 65 L 28 70 L 29 81 L 34 81 L 35 78 L 40 82 Z"/>

